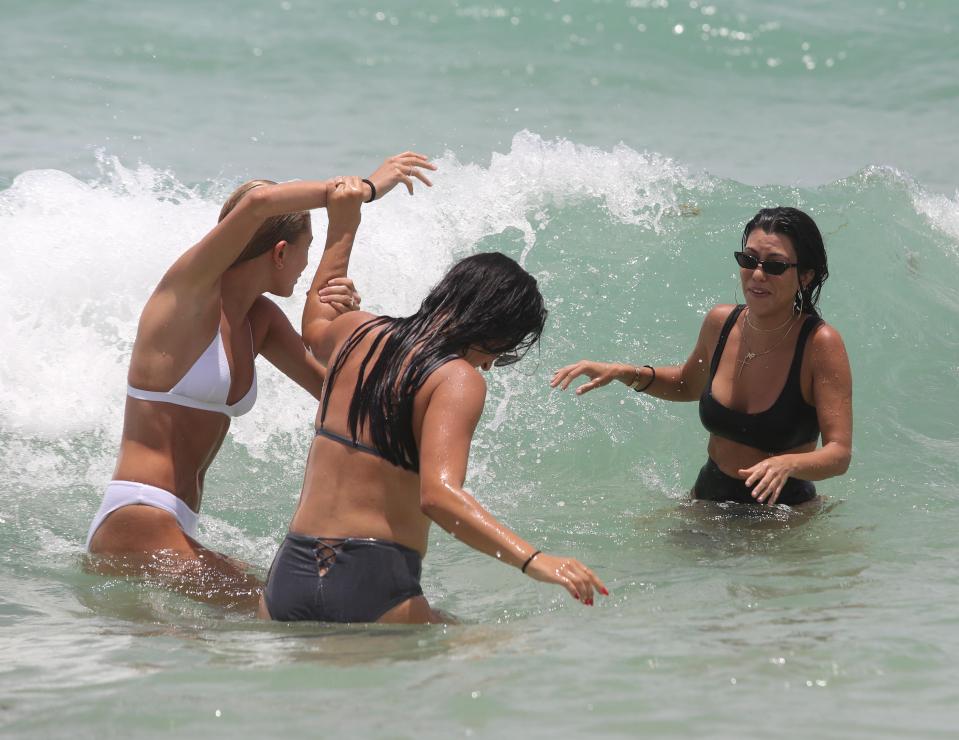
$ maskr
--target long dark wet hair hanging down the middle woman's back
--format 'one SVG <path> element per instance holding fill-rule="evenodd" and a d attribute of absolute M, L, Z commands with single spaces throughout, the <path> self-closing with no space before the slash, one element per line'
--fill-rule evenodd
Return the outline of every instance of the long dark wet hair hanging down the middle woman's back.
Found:
<path fill-rule="evenodd" d="M 370 332 L 382 329 L 360 363 L 350 401 L 350 437 L 355 444 L 360 431 L 368 429 L 373 447 L 386 460 L 418 471 L 413 399 L 430 374 L 469 349 L 522 356 L 539 341 L 545 323 L 536 278 L 514 260 L 499 252 L 460 260 L 415 314 L 379 316 L 353 332 L 329 369 L 320 424 L 347 358 Z"/>

